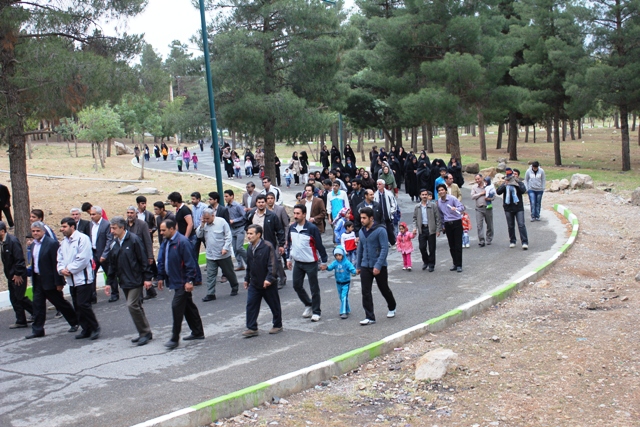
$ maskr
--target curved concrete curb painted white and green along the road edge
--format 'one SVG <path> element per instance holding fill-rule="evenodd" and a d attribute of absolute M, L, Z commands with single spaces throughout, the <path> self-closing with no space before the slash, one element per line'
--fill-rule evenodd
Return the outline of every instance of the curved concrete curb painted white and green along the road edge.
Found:
<path fill-rule="evenodd" d="M 341 354 L 325 362 L 136 424 L 133 427 L 193 427 L 209 425 L 217 419 L 234 416 L 245 409 L 260 406 L 263 402 L 270 401 L 272 397 L 287 396 L 309 389 L 323 380 L 328 380 L 333 376 L 342 375 L 353 370 L 381 354 L 390 353 L 394 348 L 400 347 L 428 332 L 441 331 L 454 323 L 472 318 L 504 300 L 518 289 L 537 280 L 573 246 L 578 236 L 578 218 L 563 205 L 556 204 L 553 209 L 563 215 L 572 225 L 569 239 L 546 262 L 515 281 L 498 286 L 485 295 L 462 304 L 441 316 L 389 335 L 380 341 Z"/>

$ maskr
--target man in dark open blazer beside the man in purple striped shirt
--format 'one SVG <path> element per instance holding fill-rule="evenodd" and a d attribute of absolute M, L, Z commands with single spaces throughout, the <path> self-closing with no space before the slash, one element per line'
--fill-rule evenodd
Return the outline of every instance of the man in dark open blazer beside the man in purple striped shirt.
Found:
<path fill-rule="evenodd" d="M 413 210 L 413 223 L 418 233 L 418 246 L 422 255 L 422 269 L 432 272 L 436 265 L 436 237 L 440 236 L 442 224 L 440 212 L 429 190 L 420 190 L 420 203 Z"/>

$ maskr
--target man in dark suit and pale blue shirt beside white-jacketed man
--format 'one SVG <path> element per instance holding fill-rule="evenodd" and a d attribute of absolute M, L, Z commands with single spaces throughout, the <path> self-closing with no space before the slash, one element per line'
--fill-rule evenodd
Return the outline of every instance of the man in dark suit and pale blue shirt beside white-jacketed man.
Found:
<path fill-rule="evenodd" d="M 27 339 L 44 336 L 44 323 L 47 317 L 46 300 L 64 316 L 71 326 L 70 332 L 78 330 L 78 317 L 73 306 L 62 296 L 64 279 L 58 274 L 58 247 L 57 240 L 47 235 L 43 222 L 35 221 L 31 224 L 31 256 L 33 257 L 33 315 L 31 335 Z"/>

